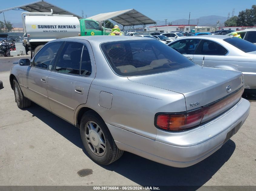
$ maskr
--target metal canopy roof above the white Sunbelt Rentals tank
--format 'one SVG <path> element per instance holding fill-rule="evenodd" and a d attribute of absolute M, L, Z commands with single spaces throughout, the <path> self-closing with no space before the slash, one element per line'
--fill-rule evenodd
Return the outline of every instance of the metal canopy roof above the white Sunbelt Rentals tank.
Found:
<path fill-rule="evenodd" d="M 3 9 L 3 10 L 0 10 L 0 13 L 5 12 L 5 11 L 10 11 L 10 10 L 15 10 L 18 8 L 22 9 L 24 11 L 28 11 L 28 12 L 51 12 L 51 9 L 52 9 L 53 14 L 68 14 L 68 15 L 74 15 L 78 19 L 82 18 L 79 15 L 71 13 L 65 9 L 62 9 L 56 5 L 53 5 L 51 3 L 44 1 L 44 0 L 36 1 L 36 2 L 32 2 L 32 3 L 28 3 L 26 5 L 20 5 L 20 6 L 8 8 L 8 9 Z"/>

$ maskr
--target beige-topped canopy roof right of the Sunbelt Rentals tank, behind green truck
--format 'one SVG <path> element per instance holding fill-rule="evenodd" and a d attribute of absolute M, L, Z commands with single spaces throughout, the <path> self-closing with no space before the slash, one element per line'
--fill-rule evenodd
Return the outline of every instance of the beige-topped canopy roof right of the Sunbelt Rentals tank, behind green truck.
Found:
<path fill-rule="evenodd" d="M 135 9 L 101 13 L 95 16 L 91 16 L 89 17 L 89 19 L 94 19 L 95 21 L 112 20 L 122 25 L 123 28 L 125 26 L 135 25 L 142 25 L 143 28 L 145 28 L 146 24 L 154 24 L 156 26 L 156 21 L 152 20 L 151 18 L 147 17 L 146 15 L 140 13 Z"/>

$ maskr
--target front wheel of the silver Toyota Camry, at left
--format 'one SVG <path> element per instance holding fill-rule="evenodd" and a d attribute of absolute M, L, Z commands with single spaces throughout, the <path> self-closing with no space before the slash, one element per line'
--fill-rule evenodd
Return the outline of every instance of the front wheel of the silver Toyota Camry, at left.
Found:
<path fill-rule="evenodd" d="M 18 108 L 22 109 L 31 106 L 31 101 L 23 95 L 16 79 L 13 80 L 13 91 Z"/>

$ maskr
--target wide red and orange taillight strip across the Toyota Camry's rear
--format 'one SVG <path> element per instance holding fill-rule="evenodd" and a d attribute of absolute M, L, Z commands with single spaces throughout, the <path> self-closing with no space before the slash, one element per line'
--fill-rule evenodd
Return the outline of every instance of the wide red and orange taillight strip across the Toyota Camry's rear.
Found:
<path fill-rule="evenodd" d="M 199 126 L 230 109 L 240 100 L 242 94 L 243 88 L 240 88 L 229 96 L 197 110 L 182 113 L 157 113 L 155 126 L 168 131 L 182 131 Z"/>

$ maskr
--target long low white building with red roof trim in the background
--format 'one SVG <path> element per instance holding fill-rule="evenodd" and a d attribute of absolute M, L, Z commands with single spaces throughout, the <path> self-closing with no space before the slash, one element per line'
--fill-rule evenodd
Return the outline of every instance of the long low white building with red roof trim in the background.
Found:
<path fill-rule="evenodd" d="M 195 29 L 196 25 L 162 25 L 162 26 L 148 26 L 145 27 L 146 31 L 160 31 L 162 33 L 168 33 L 173 31 L 191 32 Z"/>

